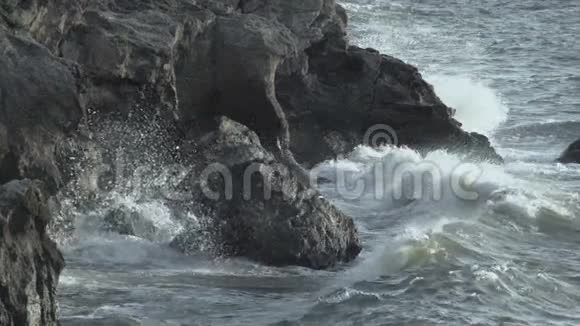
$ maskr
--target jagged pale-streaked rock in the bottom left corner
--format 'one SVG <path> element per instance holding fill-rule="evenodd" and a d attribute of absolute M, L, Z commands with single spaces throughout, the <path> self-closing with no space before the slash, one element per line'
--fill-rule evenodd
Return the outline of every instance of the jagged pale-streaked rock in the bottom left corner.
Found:
<path fill-rule="evenodd" d="M 40 182 L 0 186 L 0 325 L 58 325 L 56 285 L 64 260 L 46 235 Z"/>

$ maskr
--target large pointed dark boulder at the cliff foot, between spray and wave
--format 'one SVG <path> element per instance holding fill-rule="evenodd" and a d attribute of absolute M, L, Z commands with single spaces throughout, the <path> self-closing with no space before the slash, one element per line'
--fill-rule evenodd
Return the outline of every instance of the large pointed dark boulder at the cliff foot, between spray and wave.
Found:
<path fill-rule="evenodd" d="M 194 187 L 205 212 L 217 217 L 215 234 L 224 253 L 273 265 L 326 268 L 361 250 L 352 219 L 333 207 L 277 161 L 247 127 L 219 118 L 198 144 L 207 173 Z M 191 233 L 193 232 L 193 233 Z M 172 243 L 196 248 L 196 230 Z"/>

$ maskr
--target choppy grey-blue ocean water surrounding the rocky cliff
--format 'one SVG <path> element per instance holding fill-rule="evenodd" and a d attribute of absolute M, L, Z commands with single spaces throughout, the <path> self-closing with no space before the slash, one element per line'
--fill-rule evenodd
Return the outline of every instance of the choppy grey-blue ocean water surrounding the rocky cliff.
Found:
<path fill-rule="evenodd" d="M 350 197 L 323 186 L 364 243 L 331 271 L 183 257 L 165 245 L 179 231 L 171 210 L 114 194 L 162 232 L 142 240 L 78 222 L 62 244 L 63 325 L 580 325 L 580 165 L 554 163 L 580 137 L 580 2 L 340 2 L 353 44 L 416 65 L 506 163 L 361 146 L 321 164 L 351 182 L 393 162 L 435 168 L 442 185 L 405 196 L 415 189 L 401 178 Z M 452 189 L 460 169 L 477 198 Z"/>

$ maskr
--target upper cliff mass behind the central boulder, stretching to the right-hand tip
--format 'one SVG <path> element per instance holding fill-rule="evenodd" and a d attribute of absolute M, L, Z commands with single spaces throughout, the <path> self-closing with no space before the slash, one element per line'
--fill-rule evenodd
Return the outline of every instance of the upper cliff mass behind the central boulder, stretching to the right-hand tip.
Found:
<path fill-rule="evenodd" d="M 120 0 L 14 5 L 12 18 L 79 63 L 91 110 L 147 105 L 183 129 L 225 115 L 289 164 L 348 152 L 386 124 L 400 145 L 501 161 L 466 133 L 417 70 L 349 46 L 333 0 Z M 58 22 L 58 24 L 56 23 Z M 146 103 L 146 104 L 144 104 Z M 293 157 L 287 151 L 293 152 Z"/>

